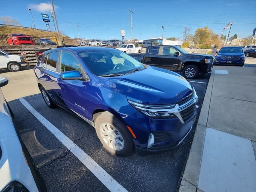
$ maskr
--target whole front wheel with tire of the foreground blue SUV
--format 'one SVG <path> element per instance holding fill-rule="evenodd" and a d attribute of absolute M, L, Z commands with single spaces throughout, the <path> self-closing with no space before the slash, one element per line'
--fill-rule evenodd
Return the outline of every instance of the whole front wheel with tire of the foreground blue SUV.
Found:
<path fill-rule="evenodd" d="M 100 142 L 108 152 L 128 156 L 134 150 L 134 142 L 128 128 L 110 112 L 102 112 L 94 121 Z"/>

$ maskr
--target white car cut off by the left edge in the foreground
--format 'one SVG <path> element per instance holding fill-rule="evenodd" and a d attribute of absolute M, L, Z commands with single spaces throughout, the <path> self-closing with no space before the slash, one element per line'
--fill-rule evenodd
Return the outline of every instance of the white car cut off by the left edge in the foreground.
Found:
<path fill-rule="evenodd" d="M 1 87 L 8 79 L 0 76 L 0 191 L 45 192 L 46 185 L 12 123 L 12 112 Z"/>

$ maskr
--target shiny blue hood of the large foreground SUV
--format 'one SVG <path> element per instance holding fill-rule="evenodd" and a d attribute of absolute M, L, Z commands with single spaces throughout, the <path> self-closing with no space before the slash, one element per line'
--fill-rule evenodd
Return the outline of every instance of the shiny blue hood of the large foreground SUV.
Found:
<path fill-rule="evenodd" d="M 100 81 L 123 92 L 129 100 L 144 104 L 176 104 L 193 91 L 190 82 L 179 74 L 152 66 Z"/>

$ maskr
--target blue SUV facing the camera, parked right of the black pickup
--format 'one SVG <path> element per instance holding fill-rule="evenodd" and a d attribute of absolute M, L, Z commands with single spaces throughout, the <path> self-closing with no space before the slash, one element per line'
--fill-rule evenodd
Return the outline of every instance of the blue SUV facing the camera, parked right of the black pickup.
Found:
<path fill-rule="evenodd" d="M 214 65 L 244 66 L 245 55 L 241 47 L 222 47 L 214 58 Z"/>

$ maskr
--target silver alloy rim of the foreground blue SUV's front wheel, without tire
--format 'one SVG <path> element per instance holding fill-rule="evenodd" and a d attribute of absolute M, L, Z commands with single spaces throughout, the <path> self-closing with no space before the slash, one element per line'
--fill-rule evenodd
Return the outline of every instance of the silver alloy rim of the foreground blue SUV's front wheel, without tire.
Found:
<path fill-rule="evenodd" d="M 102 123 L 100 125 L 100 136 L 111 149 L 120 151 L 124 148 L 124 138 L 112 124 Z"/>

